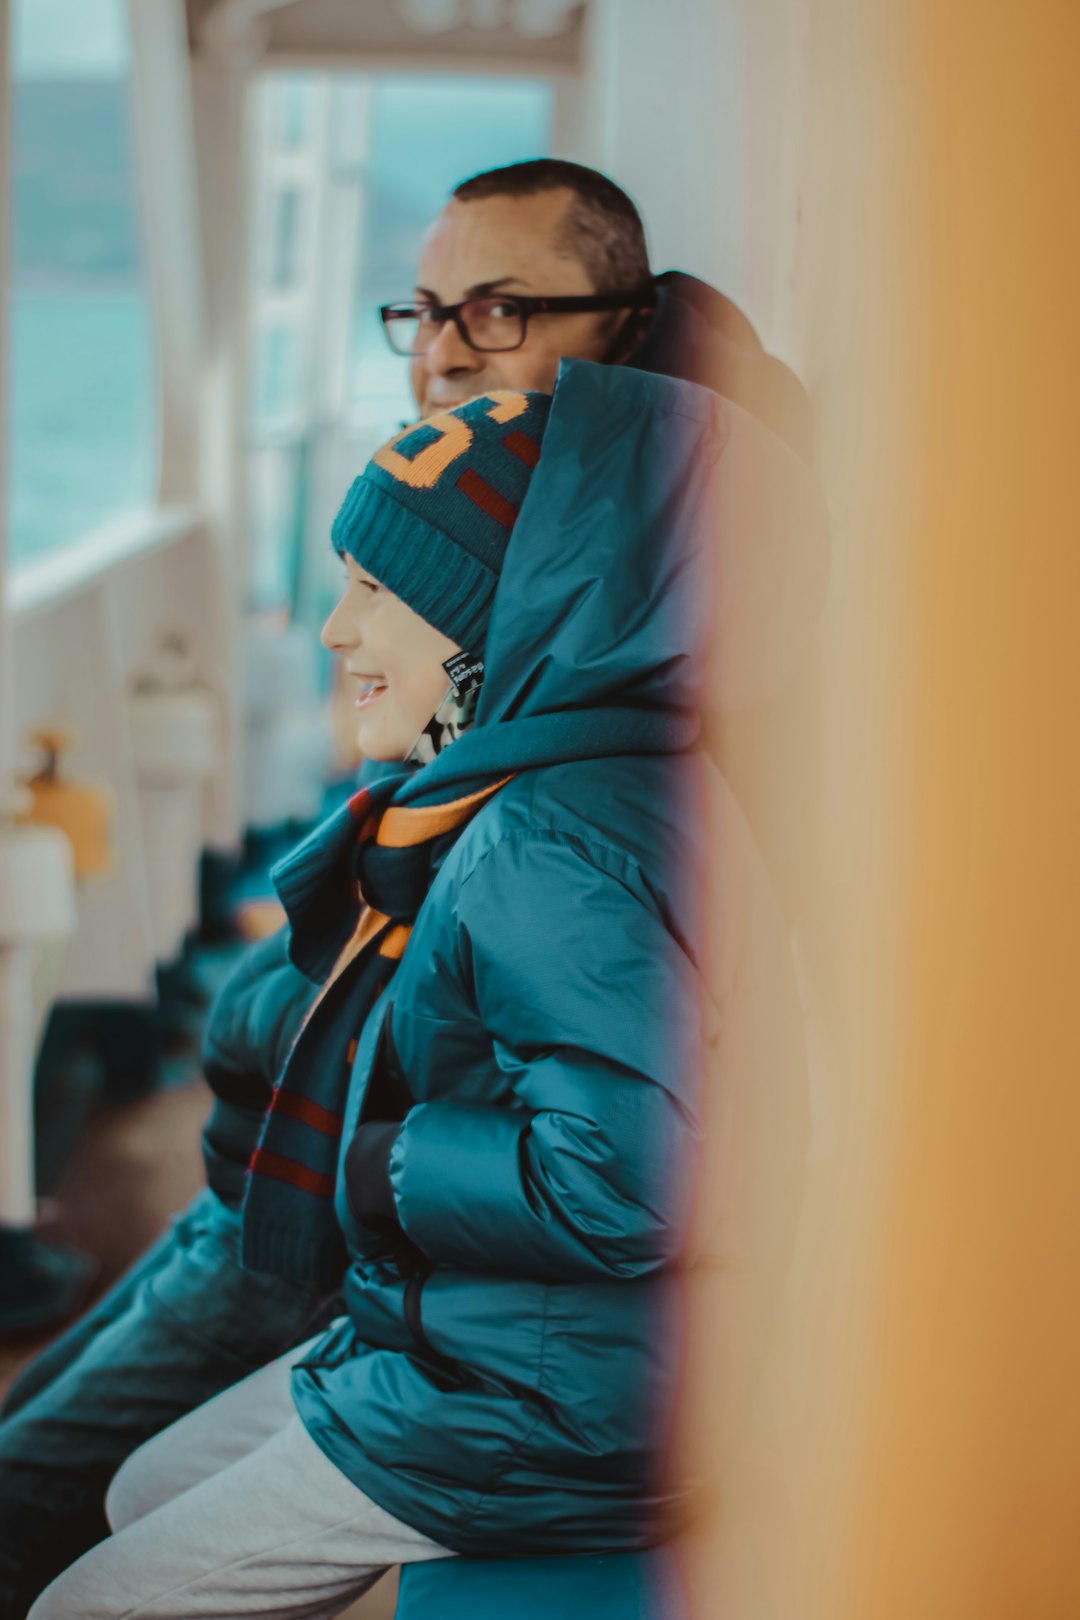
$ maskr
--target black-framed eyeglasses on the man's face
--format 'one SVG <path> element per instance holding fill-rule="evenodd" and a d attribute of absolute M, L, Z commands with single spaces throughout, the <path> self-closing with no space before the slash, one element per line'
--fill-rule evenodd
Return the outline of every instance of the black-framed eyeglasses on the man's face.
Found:
<path fill-rule="evenodd" d="M 520 348 L 534 314 L 588 314 L 599 309 L 651 309 L 656 298 L 651 287 L 625 293 L 589 293 L 565 298 L 533 298 L 517 293 L 492 293 L 489 298 L 465 298 L 458 305 L 415 303 L 382 305 L 379 319 L 395 355 L 426 355 L 439 340 L 447 321 L 458 335 L 481 355 L 499 355 Z"/>

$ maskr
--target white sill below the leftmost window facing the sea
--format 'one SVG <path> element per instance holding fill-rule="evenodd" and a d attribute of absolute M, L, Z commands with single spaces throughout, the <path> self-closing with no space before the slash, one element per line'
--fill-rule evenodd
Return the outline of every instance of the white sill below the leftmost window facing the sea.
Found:
<path fill-rule="evenodd" d="M 134 557 L 185 539 L 202 523 L 196 507 L 155 507 L 104 523 L 47 557 L 13 567 L 8 614 L 31 617 L 92 590 L 104 575 Z"/>

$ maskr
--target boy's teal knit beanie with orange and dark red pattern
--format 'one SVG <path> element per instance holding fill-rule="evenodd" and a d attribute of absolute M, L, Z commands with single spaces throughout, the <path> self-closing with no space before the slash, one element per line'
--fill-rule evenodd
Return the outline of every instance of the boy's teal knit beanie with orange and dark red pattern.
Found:
<path fill-rule="evenodd" d="M 413 612 L 481 653 L 551 397 L 499 390 L 413 423 L 376 450 L 330 538 Z"/>

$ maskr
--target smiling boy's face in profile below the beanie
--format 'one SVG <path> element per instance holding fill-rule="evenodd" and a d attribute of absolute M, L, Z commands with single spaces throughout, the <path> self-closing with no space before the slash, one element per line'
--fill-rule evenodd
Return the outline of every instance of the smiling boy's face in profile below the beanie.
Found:
<path fill-rule="evenodd" d="M 356 684 L 356 740 L 368 760 L 405 760 L 450 688 L 444 661 L 460 648 L 345 557 L 345 593 L 322 645 Z"/>

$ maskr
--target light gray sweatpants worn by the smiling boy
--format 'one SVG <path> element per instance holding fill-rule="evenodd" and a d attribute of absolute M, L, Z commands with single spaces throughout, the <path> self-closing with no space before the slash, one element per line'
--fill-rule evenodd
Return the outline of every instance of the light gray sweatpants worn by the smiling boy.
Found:
<path fill-rule="evenodd" d="M 139 1447 L 105 1502 L 115 1534 L 28 1620 L 324 1620 L 387 1565 L 452 1557 L 371 1502 L 308 1435 L 288 1374 L 311 1343 Z"/>

